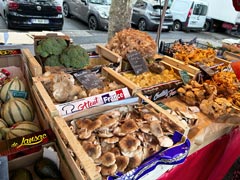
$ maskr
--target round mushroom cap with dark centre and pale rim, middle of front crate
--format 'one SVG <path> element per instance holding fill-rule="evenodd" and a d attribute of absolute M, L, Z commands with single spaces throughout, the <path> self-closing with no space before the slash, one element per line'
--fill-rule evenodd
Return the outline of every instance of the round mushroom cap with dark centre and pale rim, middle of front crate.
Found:
<path fill-rule="evenodd" d="M 119 146 L 122 152 L 136 151 L 140 144 L 141 142 L 139 141 L 139 139 L 132 136 L 131 134 L 126 135 L 119 142 Z"/>

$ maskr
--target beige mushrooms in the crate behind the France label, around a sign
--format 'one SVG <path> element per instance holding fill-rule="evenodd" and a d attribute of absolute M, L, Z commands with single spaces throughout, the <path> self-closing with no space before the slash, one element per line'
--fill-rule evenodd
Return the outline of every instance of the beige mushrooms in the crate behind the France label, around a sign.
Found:
<path fill-rule="evenodd" d="M 96 74 L 103 81 L 103 87 L 87 90 L 75 78 L 68 73 L 60 71 L 58 73 L 45 72 L 42 82 L 49 95 L 55 103 L 69 102 L 89 96 L 94 96 L 104 92 L 123 88 L 122 84 L 112 81 L 106 76 Z"/>

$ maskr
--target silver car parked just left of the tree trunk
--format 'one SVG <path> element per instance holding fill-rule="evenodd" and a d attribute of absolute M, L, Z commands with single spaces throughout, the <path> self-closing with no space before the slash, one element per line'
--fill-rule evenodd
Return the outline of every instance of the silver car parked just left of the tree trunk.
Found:
<path fill-rule="evenodd" d="M 89 29 L 108 29 L 111 0 L 63 0 L 65 17 L 72 15 L 88 24 Z"/>

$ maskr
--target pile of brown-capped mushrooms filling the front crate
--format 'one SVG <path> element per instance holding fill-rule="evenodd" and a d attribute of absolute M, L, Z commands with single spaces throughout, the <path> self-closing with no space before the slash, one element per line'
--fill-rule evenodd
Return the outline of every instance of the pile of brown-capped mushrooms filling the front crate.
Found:
<path fill-rule="evenodd" d="M 143 105 L 127 106 L 69 124 L 103 177 L 125 173 L 163 147 L 173 146 L 173 122 Z"/>

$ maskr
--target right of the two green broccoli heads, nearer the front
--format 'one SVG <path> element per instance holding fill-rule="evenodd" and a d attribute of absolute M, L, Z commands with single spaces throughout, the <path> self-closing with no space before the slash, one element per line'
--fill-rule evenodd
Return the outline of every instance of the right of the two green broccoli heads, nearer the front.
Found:
<path fill-rule="evenodd" d="M 80 45 L 69 45 L 63 50 L 60 62 L 67 68 L 84 68 L 89 64 L 89 55 Z"/>

